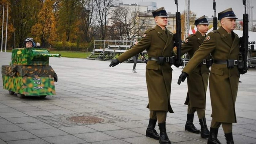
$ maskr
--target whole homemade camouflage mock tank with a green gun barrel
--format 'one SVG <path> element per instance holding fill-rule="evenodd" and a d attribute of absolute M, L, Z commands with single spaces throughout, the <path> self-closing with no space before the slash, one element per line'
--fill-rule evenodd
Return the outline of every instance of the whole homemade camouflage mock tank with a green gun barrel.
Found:
<path fill-rule="evenodd" d="M 61 54 L 49 54 L 47 49 L 12 49 L 11 65 L 2 65 L 3 88 L 19 98 L 24 96 L 55 95 L 58 77 L 49 65 L 49 57 L 61 57 Z"/>

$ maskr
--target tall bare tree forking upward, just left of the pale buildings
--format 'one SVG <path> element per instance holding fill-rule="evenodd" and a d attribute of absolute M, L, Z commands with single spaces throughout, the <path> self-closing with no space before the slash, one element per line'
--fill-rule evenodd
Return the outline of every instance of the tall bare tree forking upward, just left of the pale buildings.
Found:
<path fill-rule="evenodd" d="M 105 39 L 105 35 L 107 32 L 107 22 L 109 15 L 109 9 L 113 6 L 116 0 L 94 0 L 95 1 L 95 18 L 100 27 L 100 38 L 102 40 Z"/>

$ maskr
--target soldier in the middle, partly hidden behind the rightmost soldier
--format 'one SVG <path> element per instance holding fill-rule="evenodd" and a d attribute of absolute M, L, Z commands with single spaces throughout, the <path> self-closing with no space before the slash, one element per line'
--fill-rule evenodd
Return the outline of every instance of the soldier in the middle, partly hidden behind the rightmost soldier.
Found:
<path fill-rule="evenodd" d="M 189 35 L 181 46 L 181 55 L 188 53 L 189 58 L 192 58 L 195 51 L 204 41 L 206 33 L 208 32 L 209 22 L 205 16 L 195 20 L 197 31 L 195 34 Z M 185 104 L 188 105 L 187 121 L 185 125 L 186 131 L 199 134 L 193 124 L 194 113 L 197 112 L 198 119 L 201 125 L 201 137 L 209 137 L 209 130 L 205 120 L 205 100 L 206 90 L 209 79 L 209 58 L 210 54 L 204 57 L 203 61 L 189 74 L 187 84 L 188 92 Z"/>

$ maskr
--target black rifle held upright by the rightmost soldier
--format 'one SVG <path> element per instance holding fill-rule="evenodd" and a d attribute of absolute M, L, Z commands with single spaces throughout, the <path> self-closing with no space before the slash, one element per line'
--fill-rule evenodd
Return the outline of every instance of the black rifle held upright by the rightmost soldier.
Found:
<path fill-rule="evenodd" d="M 240 38 L 240 52 L 243 56 L 242 69 L 240 73 L 244 74 L 248 70 L 247 66 L 247 54 L 248 54 L 248 13 L 246 13 L 246 0 L 243 0 L 243 5 L 245 6 L 245 13 L 243 14 L 243 37 Z"/>

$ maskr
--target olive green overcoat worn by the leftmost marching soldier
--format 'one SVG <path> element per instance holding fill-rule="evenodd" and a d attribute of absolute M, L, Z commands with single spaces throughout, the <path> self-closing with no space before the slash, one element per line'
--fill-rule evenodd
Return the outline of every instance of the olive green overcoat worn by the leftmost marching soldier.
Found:
<path fill-rule="evenodd" d="M 175 56 L 173 52 L 173 34 L 167 30 L 165 33 L 159 26 L 148 29 L 138 44 L 124 52 L 117 59 L 120 62 L 138 54 L 146 49 L 148 57 Z M 173 113 L 170 105 L 172 68 L 170 63 L 158 64 L 158 61 L 149 60 L 146 65 L 146 82 L 148 88 L 148 108 L 150 111 L 169 111 Z"/>

